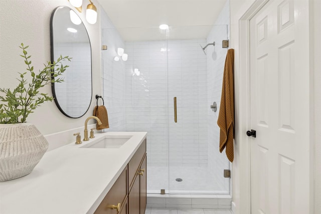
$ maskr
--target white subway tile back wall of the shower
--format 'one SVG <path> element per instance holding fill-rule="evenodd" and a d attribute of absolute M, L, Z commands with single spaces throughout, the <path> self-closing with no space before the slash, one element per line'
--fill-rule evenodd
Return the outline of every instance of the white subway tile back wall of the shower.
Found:
<path fill-rule="evenodd" d="M 204 42 L 126 42 L 126 128 L 147 129 L 151 166 L 207 164 L 206 56 L 199 46 Z M 140 76 L 133 75 L 135 68 Z"/>

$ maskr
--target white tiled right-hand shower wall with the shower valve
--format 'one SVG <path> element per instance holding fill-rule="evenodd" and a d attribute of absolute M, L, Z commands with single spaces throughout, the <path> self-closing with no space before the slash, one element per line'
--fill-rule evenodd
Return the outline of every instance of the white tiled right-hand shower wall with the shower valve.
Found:
<path fill-rule="evenodd" d="M 206 149 L 208 155 L 208 167 L 212 169 L 210 173 L 211 176 L 214 176 L 217 185 L 224 187 L 224 189 L 228 191 L 230 188 L 230 178 L 225 178 L 223 176 L 223 171 L 230 167 L 225 150 L 222 153 L 219 151 L 220 129 L 217 125 L 217 119 L 220 111 L 223 71 L 227 54 L 227 49 L 222 48 L 222 40 L 228 39 L 228 28 L 230 22 L 229 11 L 229 5 L 227 2 L 207 38 L 207 43 L 215 41 L 215 47 L 209 46 L 206 49 L 208 71 L 207 80 L 209 83 L 207 85 L 208 148 Z M 209 108 L 213 102 L 216 102 L 217 104 L 216 112 L 213 112 L 212 109 Z"/>

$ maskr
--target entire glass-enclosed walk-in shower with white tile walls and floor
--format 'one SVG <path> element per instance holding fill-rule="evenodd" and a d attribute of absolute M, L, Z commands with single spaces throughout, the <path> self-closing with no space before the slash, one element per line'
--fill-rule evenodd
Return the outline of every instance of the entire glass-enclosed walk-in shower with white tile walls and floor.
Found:
<path fill-rule="evenodd" d="M 228 39 L 227 25 L 209 26 L 204 39 L 171 38 L 171 31 L 187 29 L 103 30 L 110 131 L 147 131 L 147 193 L 229 194 L 230 178 L 224 177 L 229 161 L 219 152 L 218 111 L 210 108 L 221 99 L 227 49 L 220 43 Z M 119 31 L 155 37 L 123 41 Z M 114 61 L 118 48 L 128 54 L 127 61 Z"/>

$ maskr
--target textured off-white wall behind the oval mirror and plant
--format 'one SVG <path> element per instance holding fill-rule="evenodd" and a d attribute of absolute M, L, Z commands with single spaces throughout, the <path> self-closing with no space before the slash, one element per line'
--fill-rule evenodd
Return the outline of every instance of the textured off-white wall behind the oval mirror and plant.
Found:
<path fill-rule="evenodd" d="M 97 12 L 100 7 L 97 3 Z M 58 6 L 70 6 L 68 1 L 18 1 L 2 0 L 0 4 L 0 87 L 14 88 L 17 85 L 18 72 L 25 72 L 26 66 L 19 56 L 21 43 L 29 45 L 28 53 L 32 55 L 35 70 L 43 68 L 43 63 L 50 61 L 50 17 Z M 84 8 L 86 6 L 83 6 Z M 83 10 L 84 11 L 84 10 Z M 79 14 L 78 12 L 76 12 Z M 100 21 L 90 25 L 85 20 L 85 14 L 79 14 L 83 20 L 92 48 L 92 80 L 93 95 L 100 94 Z M 99 17 L 99 16 L 98 16 Z M 68 72 L 68 70 L 67 70 Z M 52 95 L 51 86 L 43 88 L 44 93 Z M 93 98 L 94 99 L 94 98 Z M 56 107 L 55 102 L 43 104 L 31 114 L 27 121 L 35 124 L 41 133 L 50 135 L 69 129 L 84 126 L 86 117 L 92 115 L 95 102 L 90 110 L 79 119 L 64 116 Z M 90 121 L 93 123 L 94 121 Z M 68 135 L 69 137 L 69 135 Z M 73 136 L 70 140 L 73 139 Z"/>

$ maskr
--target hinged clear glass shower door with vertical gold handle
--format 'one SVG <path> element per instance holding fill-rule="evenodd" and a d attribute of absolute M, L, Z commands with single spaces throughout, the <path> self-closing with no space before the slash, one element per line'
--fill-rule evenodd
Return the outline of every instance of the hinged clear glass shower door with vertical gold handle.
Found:
<path fill-rule="evenodd" d="M 211 26 L 207 39 L 171 38 L 171 31 L 199 28 L 172 27 L 168 34 L 169 193 L 173 194 L 229 193 L 230 187 L 229 178 L 223 176 L 229 161 L 225 152 L 219 152 L 218 111 L 210 109 L 221 99 L 227 26 Z M 207 44 L 213 45 L 204 53 Z"/>

